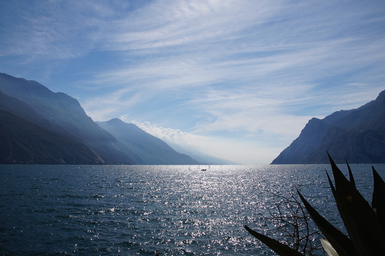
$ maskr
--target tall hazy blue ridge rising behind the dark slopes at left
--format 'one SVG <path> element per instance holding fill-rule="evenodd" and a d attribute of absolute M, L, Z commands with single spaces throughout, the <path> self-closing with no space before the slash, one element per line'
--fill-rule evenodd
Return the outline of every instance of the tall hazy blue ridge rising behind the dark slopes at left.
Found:
<path fill-rule="evenodd" d="M 26 120 L 36 125 L 42 125 L 43 122 L 43 128 L 79 141 L 106 163 L 137 164 L 132 158 L 135 154 L 92 121 L 79 102 L 67 94 L 54 93 L 36 81 L 15 78 L 4 73 L 0 73 L 0 91 L 22 101 L 40 116 L 37 120 Z"/>

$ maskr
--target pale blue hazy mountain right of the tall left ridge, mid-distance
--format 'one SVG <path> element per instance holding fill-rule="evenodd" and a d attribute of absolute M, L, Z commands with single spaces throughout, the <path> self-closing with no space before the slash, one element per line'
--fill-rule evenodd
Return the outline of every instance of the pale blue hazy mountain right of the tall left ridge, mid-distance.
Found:
<path fill-rule="evenodd" d="M 127 148 L 134 151 L 139 164 L 198 165 L 198 162 L 190 156 L 178 153 L 166 142 L 143 131 L 132 123 L 125 123 L 118 118 L 96 123 L 121 141 Z"/>

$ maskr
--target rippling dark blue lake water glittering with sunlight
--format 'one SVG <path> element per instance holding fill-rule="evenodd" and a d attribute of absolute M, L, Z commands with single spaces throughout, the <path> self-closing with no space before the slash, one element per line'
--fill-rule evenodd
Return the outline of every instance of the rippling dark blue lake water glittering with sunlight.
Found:
<path fill-rule="evenodd" d="M 371 166 L 351 165 L 368 201 Z M 385 165 L 374 166 L 384 178 Z M 260 213 L 274 207 L 266 190 L 295 185 L 343 229 L 325 168 L 1 165 L 0 254 L 271 255 L 244 229 L 261 231 Z"/>

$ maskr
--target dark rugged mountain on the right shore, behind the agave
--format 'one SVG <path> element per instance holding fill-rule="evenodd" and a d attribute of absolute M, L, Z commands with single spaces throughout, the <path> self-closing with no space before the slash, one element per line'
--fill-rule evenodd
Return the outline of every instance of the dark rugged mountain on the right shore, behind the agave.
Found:
<path fill-rule="evenodd" d="M 385 163 L 385 91 L 376 100 L 323 119 L 312 118 L 271 164 Z"/>

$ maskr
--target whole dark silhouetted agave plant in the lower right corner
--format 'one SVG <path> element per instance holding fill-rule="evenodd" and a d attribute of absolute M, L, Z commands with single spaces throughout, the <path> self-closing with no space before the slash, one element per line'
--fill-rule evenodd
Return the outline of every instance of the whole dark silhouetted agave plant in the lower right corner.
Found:
<path fill-rule="evenodd" d="M 329 223 L 321 214 L 316 211 L 297 190 L 301 201 L 305 205 L 310 218 L 325 238 L 321 243 L 330 256 L 364 256 L 385 254 L 385 183 L 372 166 L 374 191 L 372 207 L 358 192 L 353 174 L 348 162 L 349 180 L 343 175 L 340 169 L 331 159 L 329 153 L 331 170 L 334 176 L 333 185 L 328 172 L 331 191 L 336 201 L 341 219 L 346 227 L 348 236 Z M 244 226 L 246 230 L 261 242 L 269 246 L 281 256 L 304 255 L 279 241 L 269 238 L 261 233 Z"/>

